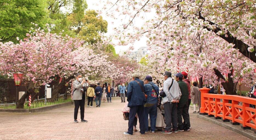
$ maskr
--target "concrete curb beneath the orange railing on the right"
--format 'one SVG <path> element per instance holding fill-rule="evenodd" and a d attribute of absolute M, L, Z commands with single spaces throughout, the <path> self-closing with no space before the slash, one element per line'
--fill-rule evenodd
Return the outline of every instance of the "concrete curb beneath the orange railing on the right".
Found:
<path fill-rule="evenodd" d="M 197 118 L 209 121 L 211 123 L 215 123 L 215 124 L 222 126 L 226 129 L 232 130 L 232 131 L 237 132 L 243 136 L 246 136 L 249 139 L 256 140 L 256 134 L 254 134 L 255 132 L 253 130 L 243 130 L 243 129 L 241 129 L 240 125 L 232 125 L 229 122 L 222 122 L 221 120 L 214 119 L 214 117 L 210 118 L 210 117 L 207 117 L 206 115 L 200 115 L 200 114 L 197 114 Z"/>

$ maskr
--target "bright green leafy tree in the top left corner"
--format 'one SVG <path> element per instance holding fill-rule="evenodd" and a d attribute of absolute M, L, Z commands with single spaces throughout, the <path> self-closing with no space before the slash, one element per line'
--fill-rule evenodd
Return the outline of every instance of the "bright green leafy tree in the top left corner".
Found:
<path fill-rule="evenodd" d="M 24 38 L 34 27 L 32 23 L 44 27 L 48 21 L 46 5 L 45 0 L 0 0 L 1 41 L 17 43 L 16 37 Z"/>

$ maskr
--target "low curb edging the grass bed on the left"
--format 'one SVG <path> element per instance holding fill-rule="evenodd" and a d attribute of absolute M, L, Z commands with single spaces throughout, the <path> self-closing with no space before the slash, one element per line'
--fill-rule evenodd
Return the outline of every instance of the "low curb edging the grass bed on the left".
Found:
<path fill-rule="evenodd" d="M 41 107 L 41 108 L 32 108 L 31 113 L 49 111 L 49 110 L 53 110 L 53 109 L 56 109 L 56 108 L 62 108 L 62 107 L 65 107 L 65 106 L 70 106 L 70 105 L 71 105 L 71 102 L 67 102 L 67 103 L 60 103 L 60 104 L 57 104 L 57 105 L 44 106 L 44 107 Z M 29 109 L 0 109 L 0 112 L 29 113 Z"/>

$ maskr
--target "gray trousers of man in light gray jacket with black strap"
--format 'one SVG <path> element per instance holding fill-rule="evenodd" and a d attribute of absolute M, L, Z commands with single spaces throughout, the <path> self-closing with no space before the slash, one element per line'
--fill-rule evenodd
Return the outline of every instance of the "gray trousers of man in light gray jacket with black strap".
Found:
<path fill-rule="evenodd" d="M 178 128 L 177 120 L 177 103 L 164 103 L 164 118 L 166 122 L 166 130 L 170 131 L 172 126 L 173 129 Z"/>

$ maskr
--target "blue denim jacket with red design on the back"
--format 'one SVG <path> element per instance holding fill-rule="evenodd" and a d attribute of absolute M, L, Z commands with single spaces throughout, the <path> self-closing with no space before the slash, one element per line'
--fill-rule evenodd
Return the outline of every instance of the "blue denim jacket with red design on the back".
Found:
<path fill-rule="evenodd" d="M 145 87 L 145 94 L 147 94 L 147 103 L 157 103 L 158 100 L 157 100 L 157 97 L 159 95 L 159 88 L 157 85 L 155 85 L 153 82 L 149 82 L 150 84 L 145 84 L 144 87 Z M 155 88 L 155 91 L 152 87 Z"/>

